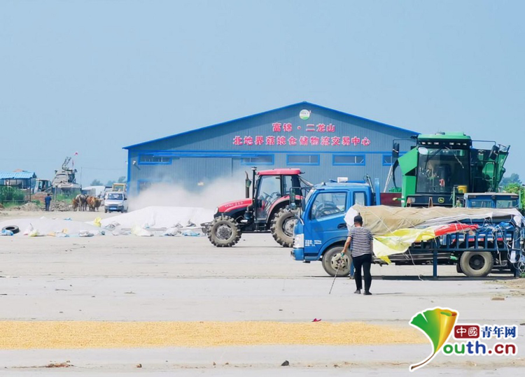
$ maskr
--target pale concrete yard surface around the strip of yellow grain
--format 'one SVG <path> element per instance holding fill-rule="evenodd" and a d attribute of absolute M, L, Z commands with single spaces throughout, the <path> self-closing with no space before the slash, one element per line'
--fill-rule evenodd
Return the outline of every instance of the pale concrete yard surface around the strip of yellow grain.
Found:
<path fill-rule="evenodd" d="M 25 217 L 28 213 L 10 215 Z M 41 216 L 44 213 L 29 213 Z M 89 221 L 104 213 L 53 213 Z M 109 215 L 109 214 L 108 214 Z M 370 297 L 353 280 L 332 278 L 320 263 L 290 259 L 269 234 L 246 234 L 235 248 L 204 237 L 0 237 L 0 320 L 364 321 L 408 326 L 434 306 L 458 322 L 519 325 L 517 357 L 437 355 L 425 375 L 498 376 L 525 368 L 525 290 L 510 275 L 465 278 L 454 267 L 373 266 Z M 496 300 L 494 300 L 496 298 Z M 428 345 L 244 346 L 0 350 L 0 373 L 96 376 L 402 376 Z M 284 360 L 289 367 L 280 367 Z M 50 363 L 69 368 L 45 368 Z M 214 364 L 215 363 L 215 364 Z M 137 365 L 141 364 L 141 368 Z M 522 372 L 521 372 L 522 373 Z"/>

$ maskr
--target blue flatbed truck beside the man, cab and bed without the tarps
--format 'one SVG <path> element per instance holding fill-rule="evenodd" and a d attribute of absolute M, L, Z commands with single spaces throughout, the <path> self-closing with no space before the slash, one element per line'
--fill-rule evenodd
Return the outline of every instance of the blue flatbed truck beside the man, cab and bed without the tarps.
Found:
<path fill-rule="evenodd" d="M 479 207 L 479 201 L 488 196 L 496 208 L 495 197 L 491 193 L 476 194 L 470 197 Z M 302 199 L 296 199 L 301 197 Z M 519 205 L 511 195 L 508 206 Z M 486 200 L 488 202 L 488 200 Z M 341 257 L 348 229 L 344 216 L 351 206 L 360 204 L 372 206 L 381 204 L 379 182 L 372 190 L 370 183 L 321 183 L 314 185 L 305 195 L 292 194 L 292 202 L 300 207 L 294 227 L 294 241 L 291 255 L 302 262 L 320 261 L 330 276 L 348 276 L 351 273 L 351 259 L 348 254 Z M 465 202 L 469 204 L 468 201 Z M 489 206 L 485 203 L 484 206 Z M 503 207 L 500 207 L 503 208 Z M 469 222 L 470 223 L 470 222 Z M 496 227 L 493 225 L 496 224 Z M 495 230 L 496 229 L 496 230 Z M 470 277 L 488 275 L 493 269 L 508 269 L 519 274 L 516 264 L 510 263 L 512 250 L 521 255 L 524 248 L 525 229 L 512 222 L 512 218 L 498 218 L 487 226 L 479 222 L 475 234 L 448 234 L 436 239 L 414 243 L 407 252 L 391 255 L 394 264 L 433 264 L 433 273 L 437 277 L 437 265 L 456 265 L 460 273 Z M 376 263 L 384 263 L 375 259 Z"/>

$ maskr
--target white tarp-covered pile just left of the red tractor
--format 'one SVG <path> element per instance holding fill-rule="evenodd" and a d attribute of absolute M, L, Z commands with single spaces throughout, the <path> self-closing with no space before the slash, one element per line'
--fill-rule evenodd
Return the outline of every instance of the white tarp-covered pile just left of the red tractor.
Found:
<path fill-rule="evenodd" d="M 142 229 L 168 229 L 182 225 L 186 227 L 189 222 L 200 227 L 202 222 L 214 220 L 214 213 L 211 210 L 199 207 L 162 207 L 151 206 L 123 213 L 102 220 L 102 227 L 108 227 L 113 223 L 118 223 L 123 229 L 140 227 Z"/>

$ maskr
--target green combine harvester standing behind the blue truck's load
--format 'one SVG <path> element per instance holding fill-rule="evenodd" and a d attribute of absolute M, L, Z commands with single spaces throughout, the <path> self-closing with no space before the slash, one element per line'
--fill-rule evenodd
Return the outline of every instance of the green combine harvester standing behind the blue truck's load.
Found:
<path fill-rule="evenodd" d="M 490 149 L 477 149 L 472 139 L 460 132 L 414 136 L 416 145 L 399 155 L 393 146 L 394 190 L 401 191 L 402 206 L 459 205 L 463 195 L 473 192 L 498 192 L 505 173 L 509 148 L 493 141 Z M 402 185 L 395 183 L 395 169 L 402 173 Z"/>

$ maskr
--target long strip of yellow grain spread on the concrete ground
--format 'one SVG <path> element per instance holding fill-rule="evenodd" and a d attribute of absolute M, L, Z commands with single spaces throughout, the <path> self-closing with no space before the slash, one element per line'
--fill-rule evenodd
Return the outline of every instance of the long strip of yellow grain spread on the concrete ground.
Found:
<path fill-rule="evenodd" d="M 416 329 L 363 322 L 0 321 L 0 349 L 414 344 Z"/>

